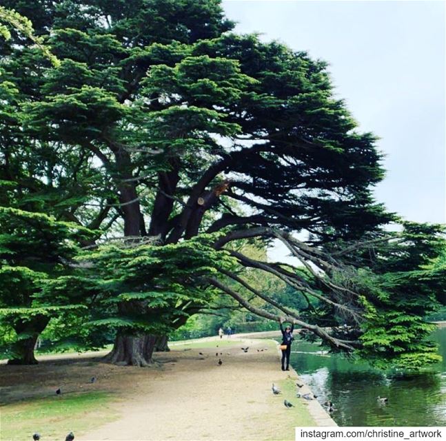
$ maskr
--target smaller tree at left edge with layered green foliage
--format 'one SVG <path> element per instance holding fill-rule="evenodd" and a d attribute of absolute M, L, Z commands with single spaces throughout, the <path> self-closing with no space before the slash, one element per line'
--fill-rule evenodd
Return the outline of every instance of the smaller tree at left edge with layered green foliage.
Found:
<path fill-rule="evenodd" d="M 88 234 L 46 214 L 0 206 L 0 324 L 15 333 L 8 335 L 12 358 L 26 357 L 50 318 L 84 307 L 44 293 L 70 271 L 76 244 Z"/>

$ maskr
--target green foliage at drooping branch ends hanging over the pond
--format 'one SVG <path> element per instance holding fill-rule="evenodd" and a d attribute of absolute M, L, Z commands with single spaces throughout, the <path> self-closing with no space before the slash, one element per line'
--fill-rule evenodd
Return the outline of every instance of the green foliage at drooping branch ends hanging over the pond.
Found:
<path fill-rule="evenodd" d="M 445 305 L 443 274 L 431 269 L 446 243 L 440 225 L 403 225 L 398 238 L 346 258 L 356 254 L 355 266 L 361 267 L 349 277 L 358 284 L 358 304 L 365 308 L 361 334 L 356 334 L 362 343 L 359 353 L 376 367 L 420 369 L 440 360 L 429 340 L 435 325 L 426 316 Z"/>

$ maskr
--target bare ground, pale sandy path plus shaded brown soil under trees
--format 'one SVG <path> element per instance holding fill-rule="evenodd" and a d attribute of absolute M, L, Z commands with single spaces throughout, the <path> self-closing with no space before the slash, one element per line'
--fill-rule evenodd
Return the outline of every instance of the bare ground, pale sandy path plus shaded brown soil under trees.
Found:
<path fill-rule="evenodd" d="M 245 346 L 250 347 L 247 353 L 241 350 Z M 295 426 L 315 425 L 305 400 L 285 396 L 296 404 L 286 409 L 284 396 L 272 394 L 272 382 L 294 387 L 296 378 L 280 370 L 270 340 L 207 339 L 172 345 L 172 351 L 158 353 L 156 359 L 159 365 L 153 368 L 109 365 L 85 355 L 45 360 L 35 367 L 2 366 L 0 400 L 7 405 L 54 393 L 57 387 L 63 393 L 88 389 L 116 396 L 110 406 L 119 417 L 76 433 L 77 441 L 294 440 Z M 97 381 L 87 384 L 92 376 Z"/>

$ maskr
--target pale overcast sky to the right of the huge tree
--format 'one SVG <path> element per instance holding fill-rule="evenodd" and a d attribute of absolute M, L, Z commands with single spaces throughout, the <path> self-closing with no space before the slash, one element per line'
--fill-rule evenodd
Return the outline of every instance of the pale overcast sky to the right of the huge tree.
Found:
<path fill-rule="evenodd" d="M 376 198 L 407 220 L 445 223 L 445 3 L 224 0 L 237 32 L 261 32 L 330 63 L 336 94 L 381 140 Z M 274 250 L 280 258 L 284 250 Z"/>

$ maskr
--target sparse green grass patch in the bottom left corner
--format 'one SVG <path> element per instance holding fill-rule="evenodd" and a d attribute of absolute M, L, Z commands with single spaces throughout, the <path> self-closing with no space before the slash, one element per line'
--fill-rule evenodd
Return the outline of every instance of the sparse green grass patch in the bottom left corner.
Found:
<path fill-rule="evenodd" d="M 108 404 L 112 394 L 105 391 L 72 393 L 54 398 L 34 398 L 0 407 L 0 440 L 31 440 L 38 432 L 44 441 L 64 440 L 118 418 Z"/>

